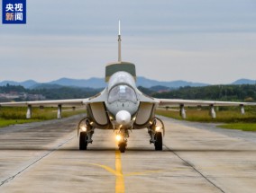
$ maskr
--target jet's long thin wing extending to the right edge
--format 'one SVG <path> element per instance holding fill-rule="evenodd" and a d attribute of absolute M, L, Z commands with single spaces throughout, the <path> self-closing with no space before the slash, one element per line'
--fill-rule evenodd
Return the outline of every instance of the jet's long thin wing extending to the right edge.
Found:
<path fill-rule="evenodd" d="M 159 106 L 169 107 L 197 107 L 197 106 L 256 106 L 256 102 L 234 102 L 234 101 L 197 101 L 180 99 L 155 99 Z"/>

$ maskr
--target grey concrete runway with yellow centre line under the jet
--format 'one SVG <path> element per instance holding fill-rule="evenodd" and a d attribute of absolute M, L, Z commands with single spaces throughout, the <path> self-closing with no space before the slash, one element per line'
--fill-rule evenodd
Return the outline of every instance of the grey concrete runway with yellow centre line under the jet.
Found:
<path fill-rule="evenodd" d="M 256 192 L 256 133 L 163 118 L 162 152 L 146 129 L 124 154 L 111 130 L 79 151 L 79 118 L 0 128 L 0 192 Z"/>

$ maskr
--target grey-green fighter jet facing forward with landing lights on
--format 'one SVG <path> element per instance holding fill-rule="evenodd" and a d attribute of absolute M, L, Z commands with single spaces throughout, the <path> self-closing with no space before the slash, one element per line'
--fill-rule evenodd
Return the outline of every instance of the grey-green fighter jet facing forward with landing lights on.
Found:
<path fill-rule="evenodd" d="M 179 107 L 180 115 L 186 118 L 185 107 L 208 106 L 209 113 L 215 118 L 215 106 L 256 105 L 250 102 L 232 101 L 191 101 L 179 99 L 156 99 L 139 91 L 136 87 L 136 68 L 133 63 L 124 62 L 121 58 L 121 31 L 119 22 L 118 61 L 105 66 L 105 89 L 91 98 L 56 100 L 56 101 L 22 101 L 5 102 L 1 106 L 27 106 L 26 118 L 32 117 L 32 107 L 58 107 L 57 118 L 61 118 L 62 107 L 83 106 L 87 117 L 78 123 L 79 149 L 87 150 L 92 144 L 96 129 L 114 130 L 119 150 L 125 152 L 130 131 L 147 128 L 150 143 L 156 151 L 162 150 L 162 136 L 165 133 L 163 121 L 155 114 L 157 107 Z M 135 132 L 134 132 L 135 135 Z"/>

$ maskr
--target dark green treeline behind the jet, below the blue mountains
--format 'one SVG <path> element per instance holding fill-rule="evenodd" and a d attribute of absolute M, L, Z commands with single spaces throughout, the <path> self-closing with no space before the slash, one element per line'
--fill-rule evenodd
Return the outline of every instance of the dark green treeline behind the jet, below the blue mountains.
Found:
<path fill-rule="evenodd" d="M 203 87 L 181 87 L 176 90 L 166 92 L 139 87 L 139 90 L 155 98 L 166 99 L 187 99 L 187 100 L 215 100 L 215 101 L 256 101 L 256 86 L 250 84 L 243 85 L 211 85 Z M 25 89 L 23 86 L 7 84 L 0 86 L 0 93 L 26 92 L 29 94 L 41 94 L 46 100 L 78 99 L 87 98 L 101 92 L 102 89 L 78 88 L 78 87 L 58 87 Z M 16 101 L 19 101 L 17 99 Z"/>

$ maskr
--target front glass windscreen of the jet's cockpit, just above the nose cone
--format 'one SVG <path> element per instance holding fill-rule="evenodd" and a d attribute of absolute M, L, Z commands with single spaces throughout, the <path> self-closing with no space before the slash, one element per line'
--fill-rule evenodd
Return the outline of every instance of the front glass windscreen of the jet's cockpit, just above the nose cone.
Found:
<path fill-rule="evenodd" d="M 112 103 L 114 101 L 132 101 L 137 102 L 137 96 L 132 87 L 122 84 L 114 86 L 108 95 L 108 102 Z"/>

